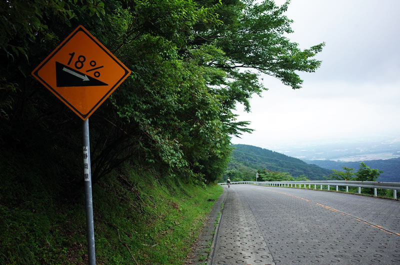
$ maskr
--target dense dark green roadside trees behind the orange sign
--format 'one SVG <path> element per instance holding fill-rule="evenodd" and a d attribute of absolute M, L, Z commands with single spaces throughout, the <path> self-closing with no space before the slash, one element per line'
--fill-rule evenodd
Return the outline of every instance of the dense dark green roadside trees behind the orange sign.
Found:
<path fill-rule="evenodd" d="M 134 159 L 166 176 L 213 181 L 230 137 L 251 131 L 232 110 L 249 110 L 265 89 L 258 73 L 299 88 L 296 71 L 320 64 L 313 56 L 323 43 L 300 50 L 284 36 L 286 9 L 271 0 L 2 1 L 1 148 L 48 156 L 79 181 L 80 121 L 29 73 L 82 24 L 132 71 L 90 117 L 93 180 Z"/>

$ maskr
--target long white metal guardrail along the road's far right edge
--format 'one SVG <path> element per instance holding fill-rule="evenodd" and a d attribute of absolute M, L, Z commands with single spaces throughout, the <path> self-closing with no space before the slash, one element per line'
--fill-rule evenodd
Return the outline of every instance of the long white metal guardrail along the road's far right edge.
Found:
<path fill-rule="evenodd" d="M 330 186 L 336 186 L 336 191 L 339 190 L 339 186 L 345 186 L 346 192 L 348 187 L 358 187 L 358 193 L 361 193 L 361 187 L 373 188 L 373 195 L 376 196 L 376 188 L 392 189 L 393 198 L 397 199 L 397 189 L 400 190 L 400 182 L 378 182 L 378 181 L 347 181 L 347 180 L 309 180 L 309 181 L 233 181 L 230 184 L 254 184 L 260 186 L 276 186 L 276 187 L 298 187 L 304 185 L 304 188 L 311 189 L 311 185 L 314 185 L 313 189 L 317 189 L 316 185 L 319 185 L 319 189 L 322 190 L 322 185 L 327 185 L 327 190 L 330 190 Z M 226 182 L 218 183 L 218 185 L 226 185 Z"/>

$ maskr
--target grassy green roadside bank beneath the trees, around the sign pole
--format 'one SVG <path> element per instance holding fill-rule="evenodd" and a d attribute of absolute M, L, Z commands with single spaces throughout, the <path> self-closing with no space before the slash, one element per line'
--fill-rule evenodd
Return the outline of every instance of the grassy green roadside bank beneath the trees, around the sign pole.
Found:
<path fill-rule="evenodd" d="M 0 165 L 0 263 L 87 263 L 83 189 L 64 197 L 40 170 L 21 178 Z M 111 173 L 93 184 L 96 262 L 183 263 L 221 192 L 131 166 Z"/>

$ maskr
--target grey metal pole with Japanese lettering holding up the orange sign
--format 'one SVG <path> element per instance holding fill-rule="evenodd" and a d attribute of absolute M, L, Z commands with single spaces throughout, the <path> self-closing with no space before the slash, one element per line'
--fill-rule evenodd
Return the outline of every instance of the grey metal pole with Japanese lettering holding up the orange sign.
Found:
<path fill-rule="evenodd" d="M 91 196 L 91 170 L 90 170 L 90 145 L 89 145 L 89 119 L 83 121 L 83 179 L 86 204 L 86 237 L 89 256 L 89 265 L 96 263 L 94 251 L 94 224 L 93 224 L 93 199 Z"/>

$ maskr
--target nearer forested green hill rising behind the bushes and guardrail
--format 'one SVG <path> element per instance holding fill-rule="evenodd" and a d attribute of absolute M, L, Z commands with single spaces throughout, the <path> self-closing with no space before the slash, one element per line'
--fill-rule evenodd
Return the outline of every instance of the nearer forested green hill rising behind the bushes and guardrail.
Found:
<path fill-rule="evenodd" d="M 234 149 L 227 170 L 236 169 L 246 179 L 254 177 L 257 169 L 288 172 L 294 177 L 305 175 L 311 180 L 324 179 L 323 176 L 331 173 L 331 170 L 318 165 L 261 147 L 246 144 L 233 144 L 231 147 Z"/>

